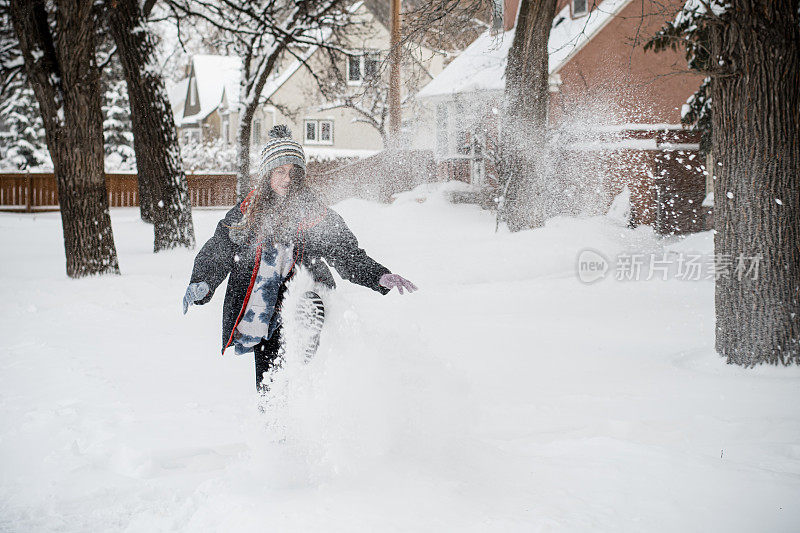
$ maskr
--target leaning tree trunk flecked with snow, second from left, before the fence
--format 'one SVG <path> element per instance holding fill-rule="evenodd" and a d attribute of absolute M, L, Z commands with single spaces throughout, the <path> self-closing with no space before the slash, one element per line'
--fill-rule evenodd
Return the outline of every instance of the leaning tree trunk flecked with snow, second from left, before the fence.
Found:
<path fill-rule="evenodd" d="M 155 69 L 155 46 L 146 20 L 138 0 L 115 0 L 107 7 L 128 84 L 140 201 L 142 214 L 149 209 L 152 216 L 153 249 L 193 248 L 192 208 L 178 134 L 164 82 Z"/>

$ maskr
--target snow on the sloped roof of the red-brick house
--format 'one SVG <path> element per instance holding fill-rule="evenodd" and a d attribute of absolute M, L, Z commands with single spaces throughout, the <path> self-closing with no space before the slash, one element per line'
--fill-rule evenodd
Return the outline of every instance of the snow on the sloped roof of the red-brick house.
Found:
<path fill-rule="evenodd" d="M 558 72 L 632 0 L 603 0 L 589 15 L 572 19 L 569 5 L 553 19 L 547 43 L 550 74 Z M 487 30 L 417 94 L 418 98 L 505 89 L 506 58 L 514 30 Z"/>

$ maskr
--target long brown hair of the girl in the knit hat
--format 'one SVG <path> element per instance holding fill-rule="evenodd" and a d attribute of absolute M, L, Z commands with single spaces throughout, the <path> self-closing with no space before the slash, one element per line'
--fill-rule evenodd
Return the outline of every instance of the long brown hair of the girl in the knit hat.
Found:
<path fill-rule="evenodd" d="M 242 220 L 228 230 L 231 240 L 237 244 L 256 245 L 265 241 L 289 244 L 297 238 L 303 220 L 324 211 L 306 185 L 305 169 L 292 165 L 290 172 L 289 190 L 283 197 L 272 190 L 272 171 L 262 176 L 246 200 Z"/>

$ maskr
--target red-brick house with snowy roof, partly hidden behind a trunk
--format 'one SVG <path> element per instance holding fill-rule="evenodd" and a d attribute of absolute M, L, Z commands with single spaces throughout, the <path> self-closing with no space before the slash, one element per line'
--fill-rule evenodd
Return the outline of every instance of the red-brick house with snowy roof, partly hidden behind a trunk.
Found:
<path fill-rule="evenodd" d="M 427 113 L 418 137 L 436 146 L 440 177 L 496 184 L 486 158 L 490 139 L 481 132 L 496 135 L 518 5 L 505 0 L 503 30 L 487 30 L 418 93 Z M 574 109 L 602 103 L 585 126 L 586 142 L 565 148 L 592 152 L 593 166 L 603 168 L 606 202 L 627 186 L 631 222 L 662 233 L 703 229 L 706 216 L 704 159 L 697 136 L 680 124 L 702 79 L 686 72 L 682 54 L 643 49 L 681 5 L 559 0 L 548 43 L 548 123 L 558 127 Z"/>

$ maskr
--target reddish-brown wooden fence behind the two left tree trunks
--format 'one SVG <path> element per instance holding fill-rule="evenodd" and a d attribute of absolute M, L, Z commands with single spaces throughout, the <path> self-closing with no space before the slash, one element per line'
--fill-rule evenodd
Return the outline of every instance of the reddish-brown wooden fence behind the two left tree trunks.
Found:
<path fill-rule="evenodd" d="M 232 206 L 236 203 L 236 174 L 187 174 L 192 207 Z M 106 174 L 111 207 L 139 205 L 136 174 Z M 58 191 L 52 172 L 0 173 L 0 210 L 58 210 Z"/>

